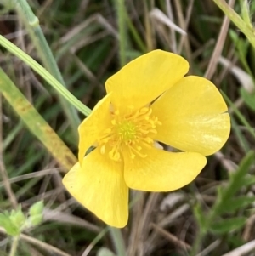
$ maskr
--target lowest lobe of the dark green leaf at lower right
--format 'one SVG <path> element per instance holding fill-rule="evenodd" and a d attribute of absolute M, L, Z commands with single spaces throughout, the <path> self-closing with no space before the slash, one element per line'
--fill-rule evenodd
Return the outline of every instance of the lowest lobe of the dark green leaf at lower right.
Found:
<path fill-rule="evenodd" d="M 236 217 L 232 219 L 221 219 L 218 222 L 212 223 L 209 230 L 218 235 L 228 233 L 232 230 L 240 229 L 246 223 L 246 217 Z"/>

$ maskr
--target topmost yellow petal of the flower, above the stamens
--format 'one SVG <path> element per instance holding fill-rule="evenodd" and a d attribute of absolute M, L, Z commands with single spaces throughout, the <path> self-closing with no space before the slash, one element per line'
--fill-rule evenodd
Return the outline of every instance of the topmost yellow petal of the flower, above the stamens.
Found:
<path fill-rule="evenodd" d="M 189 63 L 181 56 L 155 50 L 110 77 L 105 83 L 106 90 L 114 92 L 112 103 L 116 108 L 139 109 L 173 86 L 188 70 Z"/>

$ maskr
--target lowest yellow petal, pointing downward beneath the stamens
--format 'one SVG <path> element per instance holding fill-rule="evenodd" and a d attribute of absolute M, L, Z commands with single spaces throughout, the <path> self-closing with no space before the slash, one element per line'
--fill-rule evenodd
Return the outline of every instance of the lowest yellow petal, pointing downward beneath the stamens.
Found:
<path fill-rule="evenodd" d="M 118 228 L 127 225 L 128 189 L 123 179 L 122 164 L 101 155 L 98 149 L 67 173 L 63 184 L 77 199 L 106 224 Z"/>

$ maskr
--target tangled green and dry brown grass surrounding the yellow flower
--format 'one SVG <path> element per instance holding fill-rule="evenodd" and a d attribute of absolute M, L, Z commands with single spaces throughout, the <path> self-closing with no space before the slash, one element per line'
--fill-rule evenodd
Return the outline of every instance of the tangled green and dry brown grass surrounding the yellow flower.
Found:
<path fill-rule="evenodd" d="M 61 184 L 76 161 L 84 115 L 1 39 L 0 255 L 255 255 L 255 3 L 229 0 L 241 15 L 238 23 L 227 12 L 243 25 L 237 28 L 211 0 L 30 0 L 41 31 L 19 2 L 0 1 L 0 34 L 88 107 L 105 95 L 105 80 L 121 65 L 161 48 L 183 55 L 190 74 L 217 85 L 232 130 L 192 184 L 170 193 L 132 191 L 127 227 L 110 229 Z M 20 223 L 21 234 L 13 225 Z"/>

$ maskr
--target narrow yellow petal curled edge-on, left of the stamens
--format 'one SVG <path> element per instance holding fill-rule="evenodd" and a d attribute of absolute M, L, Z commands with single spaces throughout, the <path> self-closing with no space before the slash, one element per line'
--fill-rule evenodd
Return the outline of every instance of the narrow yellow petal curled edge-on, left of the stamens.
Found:
<path fill-rule="evenodd" d="M 78 128 L 80 138 L 78 158 L 81 164 L 85 153 L 90 146 L 96 143 L 99 134 L 111 126 L 110 102 L 111 94 L 108 94 L 95 105 L 92 113 Z"/>

